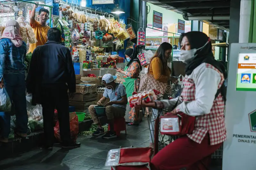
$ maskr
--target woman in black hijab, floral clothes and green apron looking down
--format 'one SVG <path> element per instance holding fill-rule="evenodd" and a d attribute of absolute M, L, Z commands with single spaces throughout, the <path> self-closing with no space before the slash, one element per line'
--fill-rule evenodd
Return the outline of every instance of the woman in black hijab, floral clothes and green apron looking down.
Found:
<path fill-rule="evenodd" d="M 117 72 L 124 74 L 123 84 L 126 88 L 127 98 L 132 96 L 133 92 L 139 91 L 140 87 L 140 71 L 142 67 L 140 60 L 137 57 L 135 48 L 129 48 L 125 51 L 125 57 L 128 62 L 124 70 L 117 69 Z M 129 103 L 126 106 L 125 121 L 128 125 L 136 125 L 142 121 L 142 115 L 140 115 L 139 108 L 131 108 Z"/>

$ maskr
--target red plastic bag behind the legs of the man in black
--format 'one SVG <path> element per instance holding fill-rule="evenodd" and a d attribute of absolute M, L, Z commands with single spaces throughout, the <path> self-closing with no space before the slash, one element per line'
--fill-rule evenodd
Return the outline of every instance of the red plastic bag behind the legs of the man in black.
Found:
<path fill-rule="evenodd" d="M 76 115 L 76 112 L 69 113 L 69 122 L 70 122 L 69 124 L 70 124 L 71 140 L 76 142 L 76 139 L 78 136 L 78 117 Z M 55 124 L 55 127 L 54 127 L 54 136 L 58 141 L 61 142 L 59 120 L 57 121 L 57 123 Z"/>

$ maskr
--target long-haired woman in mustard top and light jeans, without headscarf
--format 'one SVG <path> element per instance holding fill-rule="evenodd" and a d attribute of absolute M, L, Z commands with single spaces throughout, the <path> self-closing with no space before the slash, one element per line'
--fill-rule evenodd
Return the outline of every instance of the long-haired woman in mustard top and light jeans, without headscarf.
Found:
<path fill-rule="evenodd" d="M 150 67 L 148 68 L 148 73 L 154 75 L 154 78 L 160 82 L 169 83 L 171 81 L 172 83 L 178 83 L 178 80 L 171 77 L 171 69 L 168 67 L 168 60 L 172 53 L 172 45 L 164 42 L 162 43 L 154 57 L 150 61 Z M 153 148 L 154 146 L 154 122 L 156 116 L 157 116 L 158 110 L 153 109 L 153 114 L 151 117 L 151 124 L 150 124 L 150 135 L 149 135 L 149 142 L 150 146 Z"/>

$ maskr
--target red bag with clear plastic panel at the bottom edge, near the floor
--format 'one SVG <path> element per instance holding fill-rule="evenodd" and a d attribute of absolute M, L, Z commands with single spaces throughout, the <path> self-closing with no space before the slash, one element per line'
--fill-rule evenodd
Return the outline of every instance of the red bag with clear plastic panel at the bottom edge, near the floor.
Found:
<path fill-rule="evenodd" d="M 112 149 L 105 166 L 111 166 L 112 170 L 150 170 L 152 155 L 151 147 Z"/>

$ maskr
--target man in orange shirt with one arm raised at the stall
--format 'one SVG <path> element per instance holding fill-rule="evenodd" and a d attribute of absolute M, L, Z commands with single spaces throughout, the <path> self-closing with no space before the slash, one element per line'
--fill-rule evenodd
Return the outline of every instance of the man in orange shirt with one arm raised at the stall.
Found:
<path fill-rule="evenodd" d="M 37 43 L 29 45 L 28 53 L 33 53 L 37 46 L 44 45 L 47 42 L 46 35 L 50 29 L 50 27 L 46 25 L 46 21 L 49 18 L 49 11 L 47 9 L 41 8 L 38 13 L 39 22 L 37 22 L 35 20 L 36 7 L 37 5 L 34 5 L 34 8 L 30 14 L 30 25 L 35 33 Z"/>

